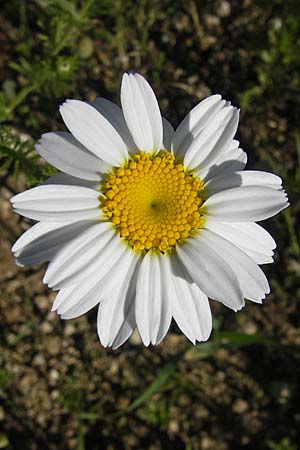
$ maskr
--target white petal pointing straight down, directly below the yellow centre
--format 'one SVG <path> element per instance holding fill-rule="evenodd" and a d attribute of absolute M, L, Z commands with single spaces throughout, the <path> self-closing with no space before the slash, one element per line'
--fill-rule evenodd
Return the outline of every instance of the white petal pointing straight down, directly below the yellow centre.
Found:
<path fill-rule="evenodd" d="M 136 323 L 144 345 L 158 344 L 166 335 L 173 292 L 168 256 L 149 251 L 141 263 L 136 285 Z"/>

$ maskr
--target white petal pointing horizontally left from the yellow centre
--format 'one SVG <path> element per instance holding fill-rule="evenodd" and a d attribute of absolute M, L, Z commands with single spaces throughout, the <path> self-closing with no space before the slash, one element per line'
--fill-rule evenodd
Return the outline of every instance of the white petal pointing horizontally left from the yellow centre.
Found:
<path fill-rule="evenodd" d="M 99 219 L 99 192 L 81 186 L 44 185 L 11 198 L 19 214 L 34 220 L 75 222 Z"/>

